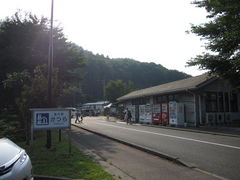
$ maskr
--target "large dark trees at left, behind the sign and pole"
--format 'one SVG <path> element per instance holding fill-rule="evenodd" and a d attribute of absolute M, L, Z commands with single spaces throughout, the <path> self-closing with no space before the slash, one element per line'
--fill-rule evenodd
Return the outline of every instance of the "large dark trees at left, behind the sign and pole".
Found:
<path fill-rule="evenodd" d="M 27 138 L 29 108 L 48 107 L 49 20 L 16 12 L 0 20 L 0 138 Z M 79 86 L 85 58 L 54 27 L 53 106 L 71 107 L 83 101 Z"/>

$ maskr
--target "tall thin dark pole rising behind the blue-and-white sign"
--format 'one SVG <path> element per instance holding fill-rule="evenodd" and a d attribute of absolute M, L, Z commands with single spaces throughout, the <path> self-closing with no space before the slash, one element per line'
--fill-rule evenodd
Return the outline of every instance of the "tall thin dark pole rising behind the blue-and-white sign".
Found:
<path fill-rule="evenodd" d="M 51 27 L 49 34 L 49 49 L 48 49 L 48 107 L 52 108 L 52 71 L 53 71 L 53 5 L 51 2 Z M 52 146 L 51 130 L 47 130 L 47 144 L 46 147 L 50 149 Z"/>

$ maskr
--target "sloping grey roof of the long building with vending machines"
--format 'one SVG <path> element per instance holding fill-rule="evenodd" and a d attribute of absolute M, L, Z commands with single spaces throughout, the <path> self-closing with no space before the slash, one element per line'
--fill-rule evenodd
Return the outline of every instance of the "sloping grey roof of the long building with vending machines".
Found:
<path fill-rule="evenodd" d="M 129 99 L 135 99 L 135 98 L 147 97 L 147 96 L 165 94 L 165 93 L 173 93 L 173 92 L 179 92 L 179 91 L 185 91 L 185 90 L 193 90 L 193 89 L 200 88 L 208 84 L 209 82 L 212 82 L 215 79 L 216 77 L 209 76 L 208 74 L 203 74 L 196 77 L 190 77 L 187 79 L 182 79 L 182 80 L 173 81 L 166 84 L 161 84 L 158 86 L 153 86 L 146 89 L 133 91 L 122 97 L 119 97 L 117 101 L 125 101 Z"/>

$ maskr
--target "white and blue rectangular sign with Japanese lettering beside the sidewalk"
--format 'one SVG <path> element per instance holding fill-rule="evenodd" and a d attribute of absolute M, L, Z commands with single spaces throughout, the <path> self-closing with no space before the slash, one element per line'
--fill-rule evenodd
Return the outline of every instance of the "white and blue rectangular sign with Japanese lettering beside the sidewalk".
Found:
<path fill-rule="evenodd" d="M 70 109 L 30 109 L 34 130 L 70 128 Z"/>

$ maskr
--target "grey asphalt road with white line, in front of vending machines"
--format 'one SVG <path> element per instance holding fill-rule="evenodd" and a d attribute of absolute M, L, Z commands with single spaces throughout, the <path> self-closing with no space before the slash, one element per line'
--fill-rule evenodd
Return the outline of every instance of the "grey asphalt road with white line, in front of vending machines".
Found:
<path fill-rule="evenodd" d="M 240 138 L 85 118 L 82 127 L 148 149 L 218 176 L 240 179 Z"/>

